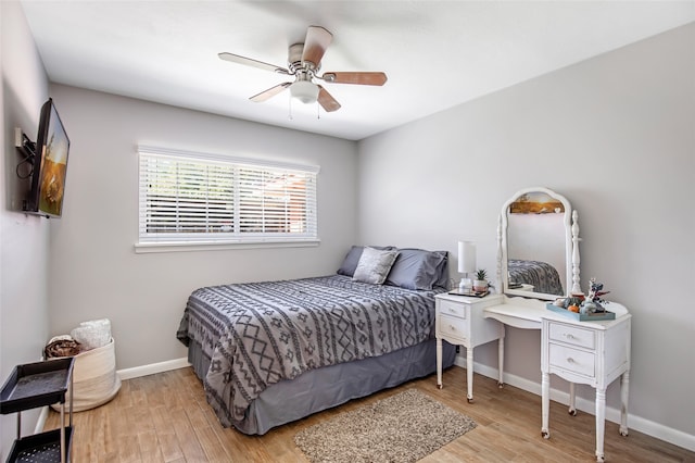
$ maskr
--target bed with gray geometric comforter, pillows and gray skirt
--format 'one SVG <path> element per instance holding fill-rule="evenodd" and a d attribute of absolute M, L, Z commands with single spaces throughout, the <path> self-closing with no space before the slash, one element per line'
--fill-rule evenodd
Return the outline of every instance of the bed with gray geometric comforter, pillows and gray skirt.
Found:
<path fill-rule="evenodd" d="M 446 280 L 443 251 L 353 247 L 336 275 L 194 290 L 177 338 L 222 425 L 263 435 L 435 372 Z M 444 366 L 454 358 L 446 345 Z"/>

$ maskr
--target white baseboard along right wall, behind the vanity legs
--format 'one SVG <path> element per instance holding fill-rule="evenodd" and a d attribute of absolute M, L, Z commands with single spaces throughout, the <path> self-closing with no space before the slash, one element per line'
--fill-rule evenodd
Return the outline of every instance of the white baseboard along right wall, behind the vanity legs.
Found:
<path fill-rule="evenodd" d="M 466 359 L 464 356 L 457 355 L 455 364 L 466 370 Z M 473 362 L 473 372 L 480 375 L 486 376 L 489 378 L 493 378 L 495 380 L 498 377 L 497 368 L 493 368 L 488 365 L 482 365 L 477 362 Z M 520 376 L 505 373 L 504 383 L 514 387 L 518 387 L 519 389 L 523 389 L 527 392 L 531 392 L 536 396 L 541 395 L 540 383 L 535 383 L 527 378 L 522 378 Z M 475 392 L 476 392 L 476 389 L 473 387 L 473 395 Z M 569 405 L 569 392 L 551 388 L 551 400 Z M 595 404 L 591 400 L 577 397 L 576 405 L 577 405 L 577 410 L 581 410 L 582 412 L 589 413 L 591 415 L 594 415 L 595 413 Z M 541 412 L 539 411 L 539 415 L 540 413 Z M 606 406 L 606 420 L 612 423 L 620 423 L 620 411 L 612 406 Z M 656 437 L 657 439 L 661 439 L 667 442 L 673 443 L 674 446 L 682 447 L 691 451 L 695 451 L 695 436 L 683 433 L 682 430 L 670 428 L 662 424 L 643 418 L 642 416 L 636 416 L 634 414 L 628 415 L 628 427 L 630 429 L 634 429 L 634 430 L 639 430 L 640 433 L 647 434 L 652 437 Z"/>

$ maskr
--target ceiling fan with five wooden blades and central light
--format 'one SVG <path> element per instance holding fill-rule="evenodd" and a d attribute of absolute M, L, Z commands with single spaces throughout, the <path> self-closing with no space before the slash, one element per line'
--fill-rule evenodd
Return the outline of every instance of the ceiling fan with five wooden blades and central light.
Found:
<path fill-rule="evenodd" d="M 262 102 L 285 90 L 290 89 L 292 97 L 303 103 L 318 103 L 326 110 L 332 112 L 340 109 L 340 103 L 319 84 L 314 83 L 314 78 L 321 79 L 330 84 L 356 84 L 356 85 L 378 85 L 387 82 L 387 75 L 382 72 L 326 72 L 318 74 L 321 67 L 321 58 L 326 49 L 333 39 L 333 35 L 320 26 L 309 26 L 306 30 L 304 43 L 294 43 L 289 48 L 288 67 L 276 66 L 240 57 L 233 53 L 223 52 L 218 57 L 222 60 L 248 66 L 260 67 L 262 70 L 274 71 L 278 74 L 294 76 L 294 82 L 285 82 L 275 87 L 270 87 L 261 93 L 249 98 L 251 101 Z"/>

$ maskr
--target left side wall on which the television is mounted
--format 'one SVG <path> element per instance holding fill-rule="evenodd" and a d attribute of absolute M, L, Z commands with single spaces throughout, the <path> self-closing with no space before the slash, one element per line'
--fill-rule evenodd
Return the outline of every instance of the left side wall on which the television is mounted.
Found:
<path fill-rule="evenodd" d="M 48 79 L 34 45 L 22 7 L 0 2 L 0 381 L 15 365 L 41 358 L 48 333 L 46 272 L 49 224 L 46 218 L 16 212 L 28 182 L 15 167 L 14 127 L 36 140 L 41 104 L 48 98 Z M 22 431 L 29 434 L 38 410 L 23 413 Z M 16 415 L 0 415 L 0 458 L 7 459 L 16 437 Z"/>

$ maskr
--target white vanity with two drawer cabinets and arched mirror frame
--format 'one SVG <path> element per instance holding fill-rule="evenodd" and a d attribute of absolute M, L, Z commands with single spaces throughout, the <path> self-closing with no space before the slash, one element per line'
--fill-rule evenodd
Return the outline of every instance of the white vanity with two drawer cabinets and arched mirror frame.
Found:
<path fill-rule="evenodd" d="M 580 322 L 565 314 L 546 309 L 545 303 L 557 296 L 529 291 L 527 288 L 505 290 L 509 287 L 507 259 L 510 253 L 510 239 L 507 234 L 507 215 L 511 214 L 510 204 L 519 198 L 528 198 L 528 193 L 541 192 L 555 202 L 554 213 L 561 216 L 565 223 L 566 238 L 563 252 L 565 259 L 565 288 L 571 292 L 581 292 L 579 287 L 579 226 L 577 212 L 571 213 L 569 202 L 561 196 L 545 188 L 533 188 L 519 191 L 503 208 L 497 230 L 497 280 L 504 295 L 490 295 L 482 299 L 455 295 L 437 297 L 437 383 L 442 387 L 441 343 L 446 340 L 466 347 L 467 360 L 467 398 L 472 401 L 473 348 L 483 343 L 498 341 L 500 378 L 503 385 L 504 371 L 504 336 L 505 326 L 522 329 L 540 329 L 541 331 L 541 391 L 542 391 L 542 427 L 541 434 L 549 438 L 549 375 L 555 374 L 570 381 L 569 413 L 577 413 L 574 406 L 576 384 L 586 384 L 596 389 L 596 460 L 604 461 L 604 431 L 606 410 L 606 388 L 614 380 L 621 379 L 621 417 L 620 434 L 628 435 L 628 391 L 630 374 L 631 315 L 629 311 L 609 302 L 606 309 L 616 314 L 610 321 Z M 526 199 L 525 199 L 526 200 Z M 571 215 L 570 215 L 571 213 Z M 536 212 L 538 214 L 538 212 Z M 571 216 L 571 225 L 570 225 Z M 516 230 L 518 233 L 518 230 Z M 513 255 L 518 259 L 517 255 Z M 515 281 L 530 285 L 534 281 Z M 538 286 L 536 286 L 538 287 Z M 570 291 L 567 291 L 570 292 Z M 535 299 L 531 299 L 535 298 Z"/>

